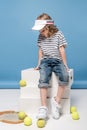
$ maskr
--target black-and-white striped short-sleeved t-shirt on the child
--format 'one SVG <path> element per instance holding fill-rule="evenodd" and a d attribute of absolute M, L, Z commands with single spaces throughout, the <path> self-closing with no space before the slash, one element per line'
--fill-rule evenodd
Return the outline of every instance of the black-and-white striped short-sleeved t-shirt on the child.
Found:
<path fill-rule="evenodd" d="M 61 31 L 58 31 L 53 36 L 46 38 L 41 34 L 38 37 L 38 46 L 43 52 L 42 58 L 57 58 L 61 59 L 59 47 L 66 47 L 67 42 Z"/>

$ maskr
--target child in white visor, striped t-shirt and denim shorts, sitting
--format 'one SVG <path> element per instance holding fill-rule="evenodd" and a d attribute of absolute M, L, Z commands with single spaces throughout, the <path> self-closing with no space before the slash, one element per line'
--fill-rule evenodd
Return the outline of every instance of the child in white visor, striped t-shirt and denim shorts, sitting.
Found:
<path fill-rule="evenodd" d="M 46 119 L 48 117 L 47 108 L 47 90 L 52 72 L 59 79 L 59 87 L 56 97 L 51 99 L 52 117 L 59 119 L 61 110 L 61 98 L 65 87 L 68 85 L 68 65 L 66 61 L 65 47 L 67 42 L 63 33 L 54 25 L 52 18 L 43 13 L 35 20 L 33 30 L 40 32 L 38 37 L 38 65 L 35 68 L 39 69 L 40 79 L 39 85 L 41 96 L 41 107 L 37 115 L 38 119 Z"/>

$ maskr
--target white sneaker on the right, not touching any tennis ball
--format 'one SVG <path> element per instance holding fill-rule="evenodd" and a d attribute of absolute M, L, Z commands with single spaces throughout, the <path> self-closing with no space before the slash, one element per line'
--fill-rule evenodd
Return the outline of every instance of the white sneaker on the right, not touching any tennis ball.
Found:
<path fill-rule="evenodd" d="M 61 113 L 61 105 L 58 104 L 54 98 L 51 99 L 51 109 L 52 109 L 52 117 L 54 119 L 59 119 Z"/>

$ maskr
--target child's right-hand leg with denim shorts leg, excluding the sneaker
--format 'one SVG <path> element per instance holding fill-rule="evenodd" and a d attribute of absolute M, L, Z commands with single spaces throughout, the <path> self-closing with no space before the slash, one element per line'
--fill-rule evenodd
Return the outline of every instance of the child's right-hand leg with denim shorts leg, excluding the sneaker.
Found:
<path fill-rule="evenodd" d="M 54 67 L 54 72 L 56 73 L 56 76 L 59 77 L 59 87 L 56 94 L 56 102 L 60 104 L 61 98 L 63 96 L 63 93 L 65 91 L 66 86 L 69 82 L 69 75 L 67 72 L 66 67 L 62 63 L 62 61 L 59 61 L 57 66 Z"/>

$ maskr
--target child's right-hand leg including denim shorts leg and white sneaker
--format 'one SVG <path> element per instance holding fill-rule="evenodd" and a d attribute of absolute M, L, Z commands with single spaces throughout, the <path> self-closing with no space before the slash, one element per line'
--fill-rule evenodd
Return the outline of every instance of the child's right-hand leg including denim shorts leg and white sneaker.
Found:
<path fill-rule="evenodd" d="M 68 85 L 69 76 L 64 64 L 61 61 L 58 61 L 57 66 L 55 66 L 53 69 L 56 75 L 59 77 L 60 86 L 58 87 L 56 97 L 53 97 L 51 100 L 52 116 L 55 119 L 59 119 L 61 114 L 60 102 L 64 94 L 65 87 Z"/>

